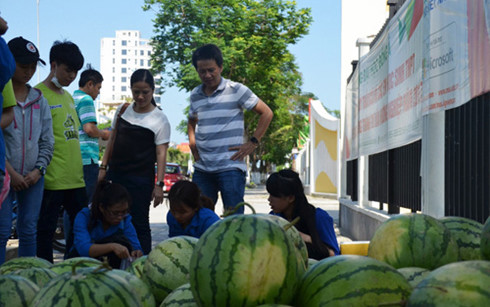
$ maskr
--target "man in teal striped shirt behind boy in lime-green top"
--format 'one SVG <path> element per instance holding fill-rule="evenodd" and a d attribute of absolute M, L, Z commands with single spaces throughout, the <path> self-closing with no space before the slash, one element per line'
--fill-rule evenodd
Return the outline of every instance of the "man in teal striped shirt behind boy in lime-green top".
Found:
<path fill-rule="evenodd" d="M 80 75 L 78 82 L 80 88 L 73 93 L 80 120 L 78 133 L 83 160 L 83 179 L 89 203 L 92 202 L 99 175 L 99 137 L 108 140 L 110 136 L 109 130 L 97 128 L 94 100 L 99 96 L 102 81 L 100 72 L 89 65 Z"/>

